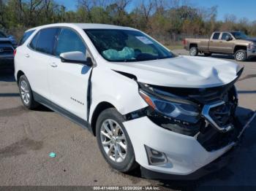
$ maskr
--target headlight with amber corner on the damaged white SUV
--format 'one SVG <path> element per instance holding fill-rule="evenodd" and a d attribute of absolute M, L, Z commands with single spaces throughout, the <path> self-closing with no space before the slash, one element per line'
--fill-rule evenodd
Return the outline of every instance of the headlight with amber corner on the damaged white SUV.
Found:
<path fill-rule="evenodd" d="M 200 118 L 199 108 L 194 103 L 172 98 L 166 95 L 158 95 L 154 92 L 139 91 L 140 96 L 155 112 L 176 122 L 196 123 Z"/>

